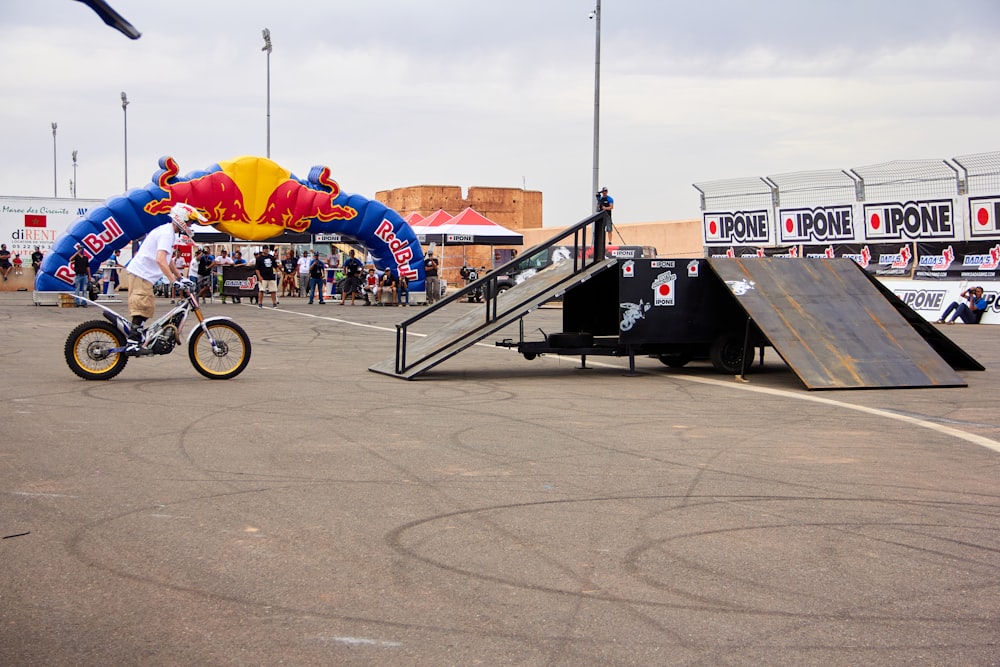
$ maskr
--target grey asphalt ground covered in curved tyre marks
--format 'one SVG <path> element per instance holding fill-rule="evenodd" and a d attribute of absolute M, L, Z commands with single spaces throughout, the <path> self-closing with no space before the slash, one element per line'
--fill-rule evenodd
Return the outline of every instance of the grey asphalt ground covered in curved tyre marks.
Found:
<path fill-rule="evenodd" d="M 499 334 L 406 382 L 414 308 L 206 310 L 238 378 L 86 382 L 95 309 L 0 295 L 0 663 L 1000 664 L 995 328 L 945 329 L 968 388 L 809 393 Z"/>

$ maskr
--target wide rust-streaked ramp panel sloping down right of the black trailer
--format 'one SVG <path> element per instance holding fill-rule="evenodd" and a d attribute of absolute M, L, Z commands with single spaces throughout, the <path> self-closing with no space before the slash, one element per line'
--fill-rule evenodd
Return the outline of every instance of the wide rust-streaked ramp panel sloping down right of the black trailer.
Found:
<path fill-rule="evenodd" d="M 808 389 L 966 385 L 850 259 L 708 261 Z"/>

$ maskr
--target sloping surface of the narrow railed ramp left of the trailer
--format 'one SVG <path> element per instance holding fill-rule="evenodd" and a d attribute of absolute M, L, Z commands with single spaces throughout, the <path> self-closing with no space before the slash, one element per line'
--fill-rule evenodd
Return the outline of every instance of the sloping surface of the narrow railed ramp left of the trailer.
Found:
<path fill-rule="evenodd" d="M 617 261 L 607 259 L 591 264 L 577 273 L 573 272 L 573 262 L 553 264 L 499 295 L 496 299 L 497 317 L 494 320 L 486 318 L 487 304 L 471 310 L 463 305 L 465 312 L 437 331 L 423 337 L 414 336 L 413 332 L 410 332 L 406 346 L 406 359 L 410 367 L 402 373 L 396 373 L 395 357 L 380 361 L 370 366 L 368 370 L 407 380 L 412 379 L 515 322 L 570 287 L 614 266 Z"/>

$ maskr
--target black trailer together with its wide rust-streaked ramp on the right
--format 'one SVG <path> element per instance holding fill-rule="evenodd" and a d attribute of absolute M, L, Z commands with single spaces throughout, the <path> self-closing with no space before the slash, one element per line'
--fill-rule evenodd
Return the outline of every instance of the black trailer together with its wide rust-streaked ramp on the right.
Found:
<path fill-rule="evenodd" d="M 744 374 L 773 347 L 808 389 L 965 386 L 983 367 L 849 259 L 619 260 L 569 289 L 563 330 L 506 339 L 540 354 L 709 359 Z"/>

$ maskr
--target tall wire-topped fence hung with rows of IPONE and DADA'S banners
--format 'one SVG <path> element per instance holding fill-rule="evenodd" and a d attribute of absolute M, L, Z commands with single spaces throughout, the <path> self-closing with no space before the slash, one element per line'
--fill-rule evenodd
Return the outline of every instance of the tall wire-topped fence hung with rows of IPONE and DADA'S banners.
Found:
<path fill-rule="evenodd" d="M 1000 152 L 694 187 L 706 254 L 843 256 L 883 276 L 1000 279 Z"/>

